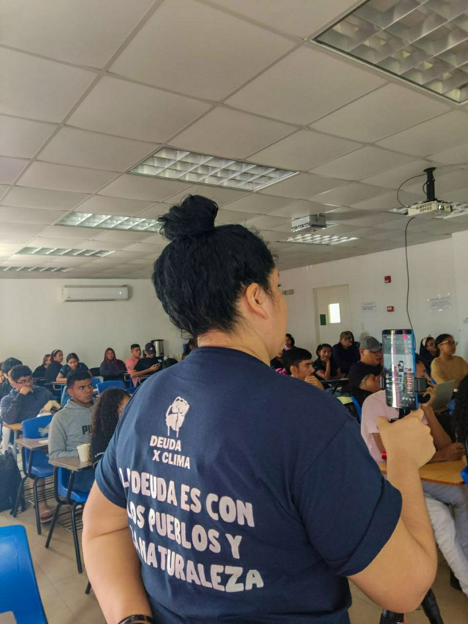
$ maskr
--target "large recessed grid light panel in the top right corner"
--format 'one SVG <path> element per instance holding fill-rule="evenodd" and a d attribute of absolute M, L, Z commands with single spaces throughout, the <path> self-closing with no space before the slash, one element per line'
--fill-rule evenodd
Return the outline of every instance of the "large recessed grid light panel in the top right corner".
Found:
<path fill-rule="evenodd" d="M 466 0 L 369 0 L 314 41 L 458 104 L 468 99 Z"/>

